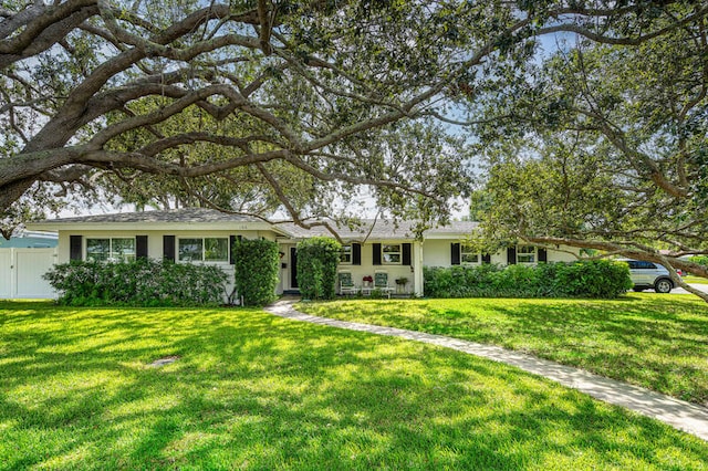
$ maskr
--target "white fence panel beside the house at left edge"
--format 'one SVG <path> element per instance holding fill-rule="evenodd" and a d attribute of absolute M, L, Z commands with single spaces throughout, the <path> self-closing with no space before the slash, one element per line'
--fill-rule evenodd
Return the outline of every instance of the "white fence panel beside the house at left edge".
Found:
<path fill-rule="evenodd" d="M 56 249 L 0 249 L 0 300 L 52 299 L 42 275 L 56 262 Z"/>

